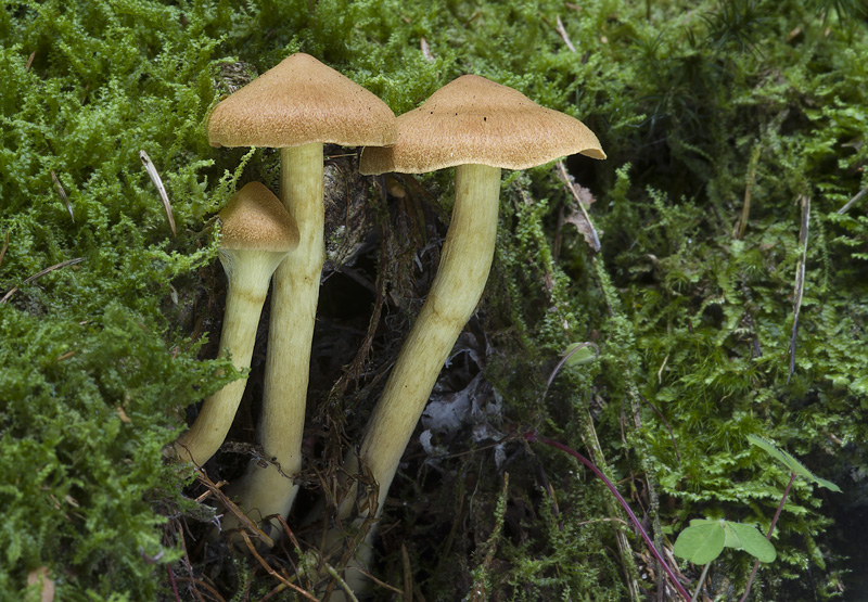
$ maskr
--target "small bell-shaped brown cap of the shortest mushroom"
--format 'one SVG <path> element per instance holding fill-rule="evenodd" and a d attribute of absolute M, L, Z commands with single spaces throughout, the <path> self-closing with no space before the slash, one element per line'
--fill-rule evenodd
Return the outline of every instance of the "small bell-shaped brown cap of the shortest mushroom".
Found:
<path fill-rule="evenodd" d="M 220 212 L 220 246 L 285 253 L 298 246 L 295 220 L 280 200 L 259 182 L 251 182 Z"/>

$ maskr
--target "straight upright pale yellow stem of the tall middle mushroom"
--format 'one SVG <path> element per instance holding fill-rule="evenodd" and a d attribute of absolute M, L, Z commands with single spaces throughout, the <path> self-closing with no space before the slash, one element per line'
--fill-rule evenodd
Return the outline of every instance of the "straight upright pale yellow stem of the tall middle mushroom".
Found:
<path fill-rule="evenodd" d="M 302 437 L 310 374 L 310 346 L 326 257 L 322 200 L 322 144 L 280 150 L 280 200 L 298 227 L 298 247 L 275 272 L 268 330 L 259 440 L 263 469 L 252 461 L 234 488 L 235 499 L 257 518 L 286 516 L 298 486 L 292 477 L 302 470 Z M 278 528 L 277 522 L 272 530 Z"/>

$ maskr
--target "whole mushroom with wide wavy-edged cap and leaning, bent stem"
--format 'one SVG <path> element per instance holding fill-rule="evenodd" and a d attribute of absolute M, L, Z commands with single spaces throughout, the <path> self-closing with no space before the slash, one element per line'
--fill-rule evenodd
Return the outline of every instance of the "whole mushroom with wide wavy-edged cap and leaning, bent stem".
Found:
<path fill-rule="evenodd" d="M 456 166 L 455 205 L 437 274 L 361 444 L 359 458 L 380 488 L 376 514 L 437 375 L 485 289 L 500 169 L 525 169 L 573 153 L 605 158 L 597 137 L 578 119 L 475 75 L 444 86 L 397 124 L 395 144 L 365 149 L 360 171 L 419 174 Z M 354 501 L 347 496 L 343 517 Z"/>

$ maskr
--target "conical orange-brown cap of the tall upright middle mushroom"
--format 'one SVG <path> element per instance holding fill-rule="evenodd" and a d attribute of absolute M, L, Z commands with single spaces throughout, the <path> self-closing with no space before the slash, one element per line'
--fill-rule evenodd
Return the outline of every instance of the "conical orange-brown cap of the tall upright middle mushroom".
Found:
<path fill-rule="evenodd" d="M 376 146 L 394 141 L 395 114 L 383 101 L 302 53 L 221 101 L 208 117 L 213 146 Z"/>

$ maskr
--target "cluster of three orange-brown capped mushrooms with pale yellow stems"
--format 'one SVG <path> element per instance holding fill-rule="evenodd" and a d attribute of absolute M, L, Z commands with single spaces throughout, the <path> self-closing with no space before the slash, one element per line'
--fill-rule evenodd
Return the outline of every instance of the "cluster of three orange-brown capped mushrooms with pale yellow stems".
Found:
<path fill-rule="evenodd" d="M 341 518 L 376 517 L 449 351 L 476 308 L 494 257 L 500 170 L 525 169 L 582 153 L 605 158 L 582 121 L 475 75 L 459 77 L 418 108 L 388 106 L 307 54 L 293 54 L 221 101 L 207 124 L 215 146 L 280 149 L 280 191 L 243 187 L 220 214 L 219 256 L 228 279 L 220 354 L 250 368 L 259 315 L 272 282 L 258 438 L 265 467 L 252 461 L 230 492 L 254 521 L 286 516 L 297 492 L 310 347 L 324 259 L 323 143 L 365 146 L 359 170 L 420 174 L 456 167 L 456 197 L 441 262 L 401 347 L 358 453 L 379 486 L 375 508 L 349 491 Z M 237 380 L 205 399 L 178 456 L 204 464 L 220 447 L 245 387 Z M 353 485 L 356 487 L 356 485 Z M 356 508 L 357 501 L 359 508 Z M 277 530 L 277 521 L 265 525 Z M 371 531 L 371 536 L 373 533 Z M 367 550 L 371 547 L 367 546 Z M 357 562 L 367 564 L 370 552 Z"/>

